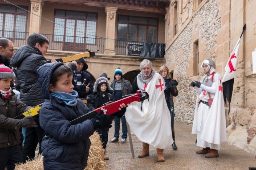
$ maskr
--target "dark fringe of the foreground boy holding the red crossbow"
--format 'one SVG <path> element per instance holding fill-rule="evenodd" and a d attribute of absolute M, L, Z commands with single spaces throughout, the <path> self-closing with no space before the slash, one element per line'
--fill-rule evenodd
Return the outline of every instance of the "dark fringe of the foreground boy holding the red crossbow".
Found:
<path fill-rule="evenodd" d="M 61 78 L 61 75 L 65 74 L 65 73 L 68 73 L 68 77 L 73 75 L 72 69 L 65 64 L 60 65 L 59 67 L 55 68 L 55 70 L 53 71 L 50 83 L 53 86 L 55 86 L 56 82 Z"/>

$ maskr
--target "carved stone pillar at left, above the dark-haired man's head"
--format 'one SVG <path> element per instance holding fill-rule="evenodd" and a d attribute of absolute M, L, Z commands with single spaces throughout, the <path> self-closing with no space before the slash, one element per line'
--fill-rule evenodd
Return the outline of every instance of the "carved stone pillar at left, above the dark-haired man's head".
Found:
<path fill-rule="evenodd" d="M 29 23 L 29 35 L 32 33 L 40 33 L 43 0 L 30 0 L 31 13 Z M 35 15 L 36 14 L 36 15 Z"/>

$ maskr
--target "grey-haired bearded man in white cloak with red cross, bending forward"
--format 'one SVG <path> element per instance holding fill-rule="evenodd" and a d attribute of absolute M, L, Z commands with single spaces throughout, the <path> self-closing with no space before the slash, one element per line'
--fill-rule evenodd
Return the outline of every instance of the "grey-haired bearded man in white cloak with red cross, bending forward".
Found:
<path fill-rule="evenodd" d="M 137 90 L 146 91 L 149 100 L 144 100 L 142 104 L 131 103 L 126 110 L 126 121 L 142 141 L 143 149 L 138 158 L 149 156 L 149 145 L 152 145 L 157 149 L 157 162 L 164 162 L 163 149 L 173 143 L 171 116 L 164 95 L 164 79 L 153 70 L 148 59 L 140 63 L 140 70 L 129 94 L 134 94 Z"/>

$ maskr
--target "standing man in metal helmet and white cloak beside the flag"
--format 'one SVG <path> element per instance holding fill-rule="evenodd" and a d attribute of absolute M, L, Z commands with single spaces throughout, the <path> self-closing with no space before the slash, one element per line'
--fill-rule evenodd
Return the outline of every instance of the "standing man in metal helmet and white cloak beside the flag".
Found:
<path fill-rule="evenodd" d="M 205 154 L 205 158 L 218 157 L 220 142 L 226 142 L 226 118 L 220 75 L 215 71 L 211 59 L 203 60 L 201 65 L 206 74 L 191 86 L 198 91 L 192 134 L 197 134 L 197 146 L 203 147 L 196 154 Z"/>

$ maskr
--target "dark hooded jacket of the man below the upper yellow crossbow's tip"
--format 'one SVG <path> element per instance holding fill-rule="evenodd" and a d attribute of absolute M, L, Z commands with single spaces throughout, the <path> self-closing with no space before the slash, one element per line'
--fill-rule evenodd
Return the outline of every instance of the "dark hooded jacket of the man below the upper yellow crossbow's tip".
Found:
<path fill-rule="evenodd" d="M 88 68 L 88 65 L 85 62 L 85 59 L 81 58 L 81 59 L 76 60 L 76 62 L 77 63 L 84 63 L 84 67 L 81 70 L 81 81 L 82 81 L 83 84 L 82 85 L 77 85 L 76 82 L 74 81 L 76 71 L 73 72 L 72 83 L 74 85 L 74 90 L 77 91 L 77 93 L 78 93 L 78 97 L 86 99 L 86 95 L 91 94 L 92 91 L 93 91 L 92 78 L 91 78 L 91 75 L 89 75 L 89 73 L 85 72 L 85 70 L 87 70 L 87 68 Z M 89 84 L 89 91 L 88 91 L 88 93 L 86 93 L 86 85 L 88 85 L 88 84 Z"/>

